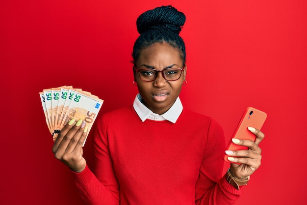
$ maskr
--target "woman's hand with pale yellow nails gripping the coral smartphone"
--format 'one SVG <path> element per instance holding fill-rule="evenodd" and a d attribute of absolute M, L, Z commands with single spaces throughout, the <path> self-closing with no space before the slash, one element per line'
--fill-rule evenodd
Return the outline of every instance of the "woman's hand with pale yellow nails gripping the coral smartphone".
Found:
<path fill-rule="evenodd" d="M 256 135 L 255 142 L 242 139 L 232 139 L 232 142 L 236 145 L 247 146 L 249 149 L 226 150 L 226 154 L 229 155 L 228 160 L 234 162 L 230 164 L 230 173 L 237 180 L 245 180 L 246 177 L 252 175 L 261 164 L 261 148 L 258 144 L 263 140 L 264 134 L 253 127 L 249 127 L 248 129 Z"/>

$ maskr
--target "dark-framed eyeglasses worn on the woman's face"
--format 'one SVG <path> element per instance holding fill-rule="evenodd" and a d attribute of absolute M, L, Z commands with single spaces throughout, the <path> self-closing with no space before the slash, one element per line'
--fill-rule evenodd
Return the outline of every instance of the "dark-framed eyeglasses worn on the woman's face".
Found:
<path fill-rule="evenodd" d="M 185 66 L 183 66 L 183 68 L 166 68 L 164 70 L 156 70 L 153 68 L 138 70 L 134 66 L 133 68 L 139 74 L 139 77 L 142 81 L 151 82 L 157 78 L 158 72 L 161 72 L 163 78 L 167 81 L 177 81 L 181 77 L 181 73 Z"/>

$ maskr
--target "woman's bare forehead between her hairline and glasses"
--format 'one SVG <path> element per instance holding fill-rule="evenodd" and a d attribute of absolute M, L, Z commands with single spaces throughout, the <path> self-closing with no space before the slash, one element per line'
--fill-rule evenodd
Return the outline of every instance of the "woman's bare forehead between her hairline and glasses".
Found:
<path fill-rule="evenodd" d="M 147 64 L 154 67 L 163 67 L 172 64 L 180 66 L 182 63 L 178 49 L 167 43 L 154 43 L 141 51 L 136 64 L 137 66 Z"/>

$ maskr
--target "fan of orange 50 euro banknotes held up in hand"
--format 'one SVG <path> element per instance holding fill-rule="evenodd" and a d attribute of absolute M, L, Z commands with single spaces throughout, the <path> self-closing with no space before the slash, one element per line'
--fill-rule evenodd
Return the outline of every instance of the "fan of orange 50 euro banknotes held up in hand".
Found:
<path fill-rule="evenodd" d="M 103 103 L 96 95 L 72 86 L 43 89 L 39 94 L 53 141 L 65 124 L 73 118 L 76 121 L 85 120 L 88 135 Z M 83 146 L 84 144 L 85 141 Z"/>

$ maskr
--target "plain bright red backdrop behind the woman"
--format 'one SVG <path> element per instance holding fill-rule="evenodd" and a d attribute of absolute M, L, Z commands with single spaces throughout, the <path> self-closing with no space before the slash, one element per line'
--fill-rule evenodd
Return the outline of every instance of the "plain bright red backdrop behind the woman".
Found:
<path fill-rule="evenodd" d="M 247 106 L 268 114 L 262 165 L 236 205 L 306 204 L 306 0 L 1 0 L 0 204 L 84 205 L 52 155 L 39 92 L 82 88 L 101 113 L 130 105 L 136 18 L 167 4 L 187 17 L 183 105 L 217 119 L 227 142 Z"/>

